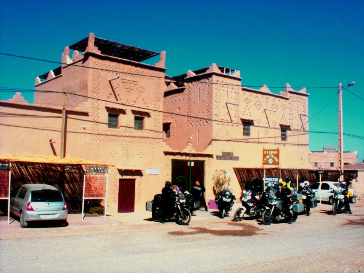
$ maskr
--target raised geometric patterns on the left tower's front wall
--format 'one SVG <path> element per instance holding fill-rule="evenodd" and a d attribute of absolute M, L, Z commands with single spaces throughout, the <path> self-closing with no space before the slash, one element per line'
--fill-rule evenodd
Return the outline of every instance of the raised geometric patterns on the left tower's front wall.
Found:
<path fill-rule="evenodd" d="M 93 64 L 94 67 L 104 69 L 104 70 L 113 70 L 113 71 L 124 71 L 126 73 L 111 73 L 109 71 L 101 71 L 101 70 L 93 70 L 92 71 L 92 84 L 91 84 L 91 97 L 95 99 L 91 99 L 91 139 L 92 141 L 97 142 L 122 142 L 122 143 L 132 143 L 132 144 L 147 144 L 147 145 L 158 145 L 162 141 L 162 114 L 158 112 L 154 112 L 151 114 L 151 122 L 153 124 L 154 131 L 160 132 L 158 134 L 158 137 L 156 138 L 156 134 L 153 134 L 154 137 L 135 137 L 129 134 L 132 134 L 130 130 L 122 131 L 119 130 L 120 135 L 115 134 L 102 134 L 100 133 L 100 125 L 99 122 L 107 122 L 107 114 L 104 113 L 105 120 L 100 120 L 100 113 L 103 113 L 103 107 L 100 107 L 98 98 L 110 98 L 112 100 L 112 97 L 114 94 L 110 94 L 109 90 L 106 91 L 108 93 L 106 94 L 100 94 L 100 80 L 107 80 L 112 78 L 112 76 L 121 76 L 120 79 L 116 79 L 114 82 L 112 82 L 112 86 L 116 92 L 118 93 L 118 90 L 125 90 L 127 92 L 130 92 L 130 96 L 126 96 L 123 98 L 119 98 L 119 102 L 127 103 L 134 105 L 137 103 L 136 106 L 141 106 L 145 108 L 149 108 L 147 102 L 144 100 L 143 94 L 145 92 L 151 92 L 154 94 L 154 102 L 153 107 L 156 110 L 161 110 L 162 107 L 162 99 L 163 96 L 161 95 L 161 89 L 157 88 L 160 86 L 161 82 L 164 82 L 163 79 L 157 78 L 160 74 L 156 71 L 149 71 L 149 70 L 143 70 L 143 75 L 140 75 L 140 70 L 138 68 L 126 68 L 124 66 L 118 66 L 118 65 L 111 65 L 106 64 L 103 62 L 95 62 Z M 134 74 L 133 74 L 134 73 Z M 149 77 L 151 76 L 151 77 Z M 134 78 L 132 79 L 126 79 L 126 77 Z M 138 86 L 138 82 L 140 79 L 147 79 L 148 82 L 150 82 L 150 90 L 146 90 L 143 86 Z M 103 91 L 104 92 L 104 91 Z M 114 98 L 115 100 L 115 98 Z M 101 116 L 103 118 L 103 115 Z"/>

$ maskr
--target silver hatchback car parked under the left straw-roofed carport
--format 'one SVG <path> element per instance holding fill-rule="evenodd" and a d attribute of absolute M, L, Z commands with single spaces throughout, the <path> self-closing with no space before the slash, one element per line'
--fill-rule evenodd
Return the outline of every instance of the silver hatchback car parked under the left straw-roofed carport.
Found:
<path fill-rule="evenodd" d="M 46 184 L 25 184 L 10 199 L 10 212 L 19 217 L 21 227 L 30 221 L 67 221 L 67 204 L 60 190 Z"/>

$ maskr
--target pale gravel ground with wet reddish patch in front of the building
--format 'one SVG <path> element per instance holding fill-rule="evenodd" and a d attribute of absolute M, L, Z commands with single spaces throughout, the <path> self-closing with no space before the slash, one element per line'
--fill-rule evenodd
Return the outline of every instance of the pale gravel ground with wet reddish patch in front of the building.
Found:
<path fill-rule="evenodd" d="M 1 221 L 0 272 L 364 272 L 363 206 L 334 216 L 319 204 L 270 226 L 202 210 L 189 226 L 155 223 L 147 211 L 66 227 Z"/>

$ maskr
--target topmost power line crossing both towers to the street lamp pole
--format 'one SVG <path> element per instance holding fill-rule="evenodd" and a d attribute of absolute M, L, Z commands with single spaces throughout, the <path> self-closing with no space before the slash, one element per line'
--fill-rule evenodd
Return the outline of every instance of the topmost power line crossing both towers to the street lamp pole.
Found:
<path fill-rule="evenodd" d="M 39 59 L 39 58 L 33 58 L 33 57 L 28 57 L 28 56 L 22 56 L 22 55 L 14 55 L 14 54 L 8 54 L 8 53 L 3 53 L 0 52 L 1 55 L 5 55 L 5 56 L 10 56 L 10 57 L 16 57 L 16 58 L 23 58 L 23 59 L 30 59 L 30 60 L 36 60 L 36 61 L 40 61 L 40 62 L 49 62 L 49 63 L 56 63 L 56 64 L 64 64 L 67 66 L 76 66 L 76 67 L 84 67 L 84 68 L 90 68 L 90 69 L 95 69 L 95 70 L 101 70 L 101 71 L 109 71 L 109 72 L 117 72 L 117 73 L 122 73 L 122 74 L 129 74 L 129 75 L 138 75 L 138 76 L 146 76 L 146 77 L 151 77 L 151 78 L 159 78 L 159 79 L 168 79 L 166 77 L 162 77 L 162 76 L 154 76 L 154 75 L 146 75 L 146 74 L 139 74 L 139 73 L 132 73 L 132 72 L 126 72 L 126 71 L 118 71 L 118 70 L 111 70 L 111 69 L 105 69 L 105 68 L 98 68 L 98 67 L 91 67 L 91 66 L 82 66 L 79 64 L 73 64 L 73 63 L 62 63 L 62 62 L 55 62 L 52 60 L 46 60 L 46 59 Z M 173 77 L 172 77 L 173 78 Z M 241 84 L 230 84 L 230 83 L 214 83 L 214 82 L 204 82 L 204 81 L 200 81 L 200 80 L 174 80 L 175 82 L 197 82 L 197 83 L 209 83 L 209 84 L 215 84 L 215 85 L 224 85 L 224 86 L 239 86 L 239 87 L 256 87 L 256 88 L 260 88 L 262 86 L 253 86 L 253 85 L 241 85 Z M 286 87 L 278 87 L 278 86 L 267 86 L 267 88 L 286 88 Z M 301 89 L 303 87 L 290 87 L 290 88 L 294 88 L 294 89 Z M 305 87 L 306 89 L 325 89 L 325 88 L 337 88 L 336 86 L 330 86 L 330 87 Z"/>

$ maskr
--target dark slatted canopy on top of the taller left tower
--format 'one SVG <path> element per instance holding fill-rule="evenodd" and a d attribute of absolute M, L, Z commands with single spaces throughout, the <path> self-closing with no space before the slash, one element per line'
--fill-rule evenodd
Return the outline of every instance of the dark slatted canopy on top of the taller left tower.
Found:
<path fill-rule="evenodd" d="M 72 44 L 70 49 L 84 52 L 87 47 L 88 37 L 79 42 Z M 159 55 L 159 52 L 145 50 L 139 47 L 128 46 L 126 44 L 116 43 L 114 41 L 105 40 L 95 37 L 95 46 L 101 51 L 101 54 L 114 56 L 122 59 L 142 62 L 146 59 Z"/>

